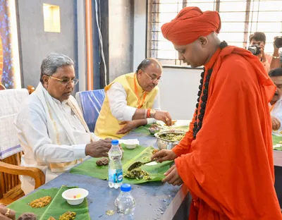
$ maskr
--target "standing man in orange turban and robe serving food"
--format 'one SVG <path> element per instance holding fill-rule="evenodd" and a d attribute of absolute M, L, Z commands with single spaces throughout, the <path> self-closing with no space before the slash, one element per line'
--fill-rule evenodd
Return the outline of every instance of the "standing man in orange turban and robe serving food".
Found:
<path fill-rule="evenodd" d="M 250 51 L 219 40 L 220 28 L 219 13 L 197 7 L 161 27 L 179 59 L 204 72 L 190 130 L 153 159 L 174 159 L 163 181 L 188 187 L 189 219 L 282 219 L 268 106 L 275 86 Z"/>

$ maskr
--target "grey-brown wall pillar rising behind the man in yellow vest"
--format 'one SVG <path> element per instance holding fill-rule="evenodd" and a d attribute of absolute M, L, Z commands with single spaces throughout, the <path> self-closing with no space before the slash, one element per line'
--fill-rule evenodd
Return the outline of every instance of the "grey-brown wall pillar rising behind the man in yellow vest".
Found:
<path fill-rule="evenodd" d="M 109 82 L 133 71 L 133 9 L 131 0 L 109 1 Z"/>

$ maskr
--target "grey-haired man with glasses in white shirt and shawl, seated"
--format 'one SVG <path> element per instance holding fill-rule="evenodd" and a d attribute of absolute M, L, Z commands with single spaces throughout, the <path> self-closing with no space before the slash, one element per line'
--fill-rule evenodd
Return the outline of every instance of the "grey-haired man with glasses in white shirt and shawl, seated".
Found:
<path fill-rule="evenodd" d="M 79 164 L 86 156 L 106 157 L 111 140 L 100 140 L 83 119 L 71 96 L 75 79 L 74 63 L 63 54 L 49 54 L 41 65 L 40 82 L 25 99 L 14 124 L 25 154 L 22 166 L 41 169 L 46 182 Z M 20 176 L 25 194 L 35 181 Z"/>

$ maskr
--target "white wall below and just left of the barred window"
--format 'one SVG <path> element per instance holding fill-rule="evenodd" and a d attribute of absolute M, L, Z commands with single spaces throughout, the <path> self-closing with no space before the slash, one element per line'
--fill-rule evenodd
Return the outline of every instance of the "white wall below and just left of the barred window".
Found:
<path fill-rule="evenodd" d="M 134 3 L 134 61 L 133 69 L 146 58 L 146 1 Z M 202 70 L 166 68 L 159 84 L 161 109 L 169 111 L 173 119 L 191 119 L 197 103 Z"/>

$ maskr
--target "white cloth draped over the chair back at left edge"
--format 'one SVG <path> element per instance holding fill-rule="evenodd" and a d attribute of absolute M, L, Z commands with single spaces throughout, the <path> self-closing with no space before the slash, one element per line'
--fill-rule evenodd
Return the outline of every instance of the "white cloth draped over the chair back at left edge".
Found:
<path fill-rule="evenodd" d="M 0 90 L 0 159 L 23 151 L 13 121 L 26 97 L 28 92 L 25 89 Z"/>

